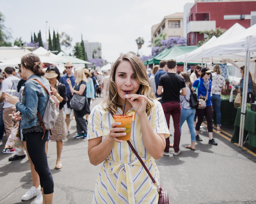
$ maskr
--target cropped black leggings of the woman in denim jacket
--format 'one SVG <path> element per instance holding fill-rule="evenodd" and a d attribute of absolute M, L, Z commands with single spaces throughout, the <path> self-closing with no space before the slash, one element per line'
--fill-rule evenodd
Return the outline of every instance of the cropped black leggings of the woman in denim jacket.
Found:
<path fill-rule="evenodd" d="M 26 133 L 26 145 L 29 156 L 35 166 L 35 170 L 40 177 L 41 187 L 44 188 L 44 194 L 53 193 L 53 178 L 48 166 L 47 155 L 45 153 L 45 142 L 47 141 L 48 131 L 44 133 Z"/>

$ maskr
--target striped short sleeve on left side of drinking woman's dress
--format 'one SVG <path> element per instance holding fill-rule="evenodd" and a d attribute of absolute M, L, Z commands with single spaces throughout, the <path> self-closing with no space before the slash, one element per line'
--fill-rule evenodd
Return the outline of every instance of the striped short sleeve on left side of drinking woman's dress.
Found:
<path fill-rule="evenodd" d="M 89 115 L 87 139 L 95 139 L 103 136 L 103 108 L 101 105 L 96 105 Z"/>

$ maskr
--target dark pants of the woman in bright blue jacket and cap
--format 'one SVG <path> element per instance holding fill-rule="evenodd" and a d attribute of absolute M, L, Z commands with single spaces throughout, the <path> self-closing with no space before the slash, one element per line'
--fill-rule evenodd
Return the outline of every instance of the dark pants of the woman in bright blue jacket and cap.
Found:
<path fill-rule="evenodd" d="M 196 108 L 195 112 L 198 116 L 198 122 L 195 125 L 195 130 L 197 130 L 197 131 L 200 130 L 200 125 L 202 124 L 202 122 L 204 120 L 204 116 L 205 116 L 206 120 L 207 120 L 208 133 L 212 133 L 212 105 L 209 105 L 204 109 Z"/>

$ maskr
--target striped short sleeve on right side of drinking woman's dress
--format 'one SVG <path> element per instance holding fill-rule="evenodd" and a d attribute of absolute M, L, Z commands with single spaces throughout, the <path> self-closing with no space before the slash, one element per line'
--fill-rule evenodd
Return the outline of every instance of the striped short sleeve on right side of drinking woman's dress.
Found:
<path fill-rule="evenodd" d="M 163 112 L 163 107 L 157 100 L 154 101 L 155 105 L 151 113 L 151 126 L 158 134 L 166 134 L 166 138 L 169 137 L 169 128 L 167 126 L 166 117 Z"/>

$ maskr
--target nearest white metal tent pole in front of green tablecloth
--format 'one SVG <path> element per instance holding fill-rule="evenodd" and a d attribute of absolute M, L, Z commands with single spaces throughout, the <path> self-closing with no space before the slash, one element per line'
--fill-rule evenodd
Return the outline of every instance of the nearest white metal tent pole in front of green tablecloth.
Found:
<path fill-rule="evenodd" d="M 243 94 L 242 94 L 242 102 L 241 102 L 240 129 L 239 129 L 239 145 L 238 145 L 239 147 L 243 147 L 243 140 L 244 140 L 244 120 L 245 120 L 245 114 L 246 114 L 247 91 L 248 91 L 248 82 L 249 82 L 249 63 L 250 63 L 250 52 L 246 51 L 246 60 L 245 60 L 245 66 L 244 66 Z"/>

